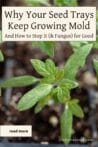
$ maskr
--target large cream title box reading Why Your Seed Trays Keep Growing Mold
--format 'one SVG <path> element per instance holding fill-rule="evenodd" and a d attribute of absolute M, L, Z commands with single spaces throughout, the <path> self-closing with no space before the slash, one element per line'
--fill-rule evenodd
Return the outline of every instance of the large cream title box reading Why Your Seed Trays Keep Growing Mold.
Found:
<path fill-rule="evenodd" d="M 95 41 L 95 7 L 3 7 L 3 41 Z"/>

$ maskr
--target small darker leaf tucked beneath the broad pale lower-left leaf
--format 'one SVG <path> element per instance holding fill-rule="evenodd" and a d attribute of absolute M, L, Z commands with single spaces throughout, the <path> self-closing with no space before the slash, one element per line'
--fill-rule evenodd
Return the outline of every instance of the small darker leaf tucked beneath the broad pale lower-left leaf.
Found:
<path fill-rule="evenodd" d="M 50 98 L 51 98 L 50 95 L 42 98 L 35 107 L 35 113 L 39 113 L 45 107 L 45 105 L 48 104 Z"/>

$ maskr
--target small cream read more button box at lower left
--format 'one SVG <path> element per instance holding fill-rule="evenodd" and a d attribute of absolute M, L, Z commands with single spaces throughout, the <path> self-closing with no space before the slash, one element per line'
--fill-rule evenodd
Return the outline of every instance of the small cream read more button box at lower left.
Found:
<path fill-rule="evenodd" d="M 0 137 L 31 137 L 31 125 L 0 126 Z"/>

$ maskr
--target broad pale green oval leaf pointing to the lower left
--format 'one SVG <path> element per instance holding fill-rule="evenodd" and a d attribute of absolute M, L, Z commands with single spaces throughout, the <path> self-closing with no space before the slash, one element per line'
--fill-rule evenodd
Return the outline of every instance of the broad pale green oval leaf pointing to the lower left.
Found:
<path fill-rule="evenodd" d="M 43 84 L 27 92 L 18 103 L 18 110 L 24 111 L 33 107 L 39 100 L 51 92 L 52 85 Z"/>

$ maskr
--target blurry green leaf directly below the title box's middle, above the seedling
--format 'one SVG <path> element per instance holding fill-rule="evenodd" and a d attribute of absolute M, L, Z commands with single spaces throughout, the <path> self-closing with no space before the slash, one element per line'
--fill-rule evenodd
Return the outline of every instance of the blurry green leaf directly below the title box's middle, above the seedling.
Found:
<path fill-rule="evenodd" d="M 50 57 L 54 56 L 54 42 L 47 42 L 47 41 L 33 42 L 32 46 L 40 48 L 43 53 L 47 54 Z"/>

